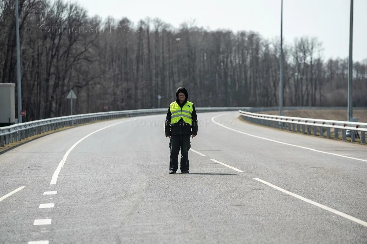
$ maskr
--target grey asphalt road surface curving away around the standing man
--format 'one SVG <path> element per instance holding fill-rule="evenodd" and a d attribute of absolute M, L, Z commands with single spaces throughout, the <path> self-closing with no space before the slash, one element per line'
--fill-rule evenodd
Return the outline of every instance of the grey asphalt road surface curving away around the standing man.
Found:
<path fill-rule="evenodd" d="M 218 116 L 219 115 L 219 116 Z M 217 116 L 217 117 L 215 117 Z M 1 243 L 361 243 L 367 227 L 280 192 L 258 177 L 367 221 L 366 162 L 247 136 L 367 159 L 366 147 L 251 125 L 237 112 L 199 113 L 190 174 L 168 174 L 164 115 L 51 134 L 0 155 Z M 57 183 L 60 160 L 70 152 Z M 211 159 L 233 166 L 225 167 Z M 57 191 L 56 195 L 43 195 Z M 39 208 L 54 203 L 53 208 Z M 52 219 L 34 226 L 35 219 Z"/>

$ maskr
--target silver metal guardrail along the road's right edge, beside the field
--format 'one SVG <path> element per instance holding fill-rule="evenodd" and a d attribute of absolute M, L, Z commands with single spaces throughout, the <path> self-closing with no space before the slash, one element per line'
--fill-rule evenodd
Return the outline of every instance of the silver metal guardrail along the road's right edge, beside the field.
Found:
<path fill-rule="evenodd" d="M 331 138 L 331 129 L 334 129 L 334 138 L 337 139 L 339 138 L 339 130 L 341 130 L 342 140 L 346 140 L 347 134 L 350 134 L 352 142 L 356 141 L 356 138 L 360 138 L 361 144 L 366 143 L 367 123 L 258 114 L 243 110 L 239 110 L 239 112 L 241 117 L 247 121 L 264 126 L 302 132 L 303 134 L 311 134 L 312 128 L 314 136 L 317 135 L 317 128 L 319 128 L 319 136 L 324 137 L 326 130 L 327 138 Z M 358 132 L 360 132 L 360 136 Z"/>

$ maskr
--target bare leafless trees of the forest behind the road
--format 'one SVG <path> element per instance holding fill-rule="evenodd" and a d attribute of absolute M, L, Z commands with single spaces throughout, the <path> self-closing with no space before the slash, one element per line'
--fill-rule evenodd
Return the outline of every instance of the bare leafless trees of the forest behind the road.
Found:
<path fill-rule="evenodd" d="M 74 113 L 157 108 L 157 95 L 167 107 L 182 85 L 197 107 L 278 105 L 280 40 L 261 33 L 102 20 L 47 0 L 19 0 L 19 28 L 28 120 L 68 115 L 70 89 Z M 0 32 L 0 82 L 17 83 L 14 1 L 0 0 Z M 346 106 L 347 57 L 323 60 L 313 37 L 285 43 L 284 104 Z M 353 77 L 353 105 L 367 106 L 367 59 Z"/>

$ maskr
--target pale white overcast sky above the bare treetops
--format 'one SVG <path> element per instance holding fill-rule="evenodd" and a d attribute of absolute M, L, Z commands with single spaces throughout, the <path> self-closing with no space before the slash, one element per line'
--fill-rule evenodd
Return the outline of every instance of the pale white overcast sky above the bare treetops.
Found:
<path fill-rule="evenodd" d="M 127 17 L 137 23 L 147 16 L 178 27 L 195 20 L 207 29 L 253 30 L 265 38 L 280 36 L 280 0 L 76 0 L 88 14 Z M 346 58 L 349 50 L 350 0 L 283 0 L 283 37 L 314 36 L 323 57 Z M 354 1 L 353 61 L 367 59 L 367 0 Z"/>

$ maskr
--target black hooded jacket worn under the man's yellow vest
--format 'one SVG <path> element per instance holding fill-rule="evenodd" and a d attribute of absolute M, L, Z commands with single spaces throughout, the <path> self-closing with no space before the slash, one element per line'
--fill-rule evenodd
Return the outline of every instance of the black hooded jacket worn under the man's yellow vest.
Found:
<path fill-rule="evenodd" d="M 186 100 L 183 103 L 180 103 L 178 99 L 178 93 L 180 92 L 182 92 L 186 96 Z M 185 105 L 187 98 L 188 98 L 188 92 L 186 88 L 179 87 L 176 91 L 176 103 L 182 108 L 183 105 Z M 166 136 L 191 135 L 191 134 L 194 134 L 196 136 L 197 135 L 197 115 L 196 115 L 196 110 L 195 110 L 194 105 L 192 106 L 191 117 L 192 117 L 191 118 L 192 125 L 183 121 L 182 118 L 178 121 L 178 123 L 174 123 L 171 125 L 171 110 L 170 108 L 168 108 L 167 116 L 166 116 L 166 124 L 165 124 L 166 125 L 165 127 Z"/>

